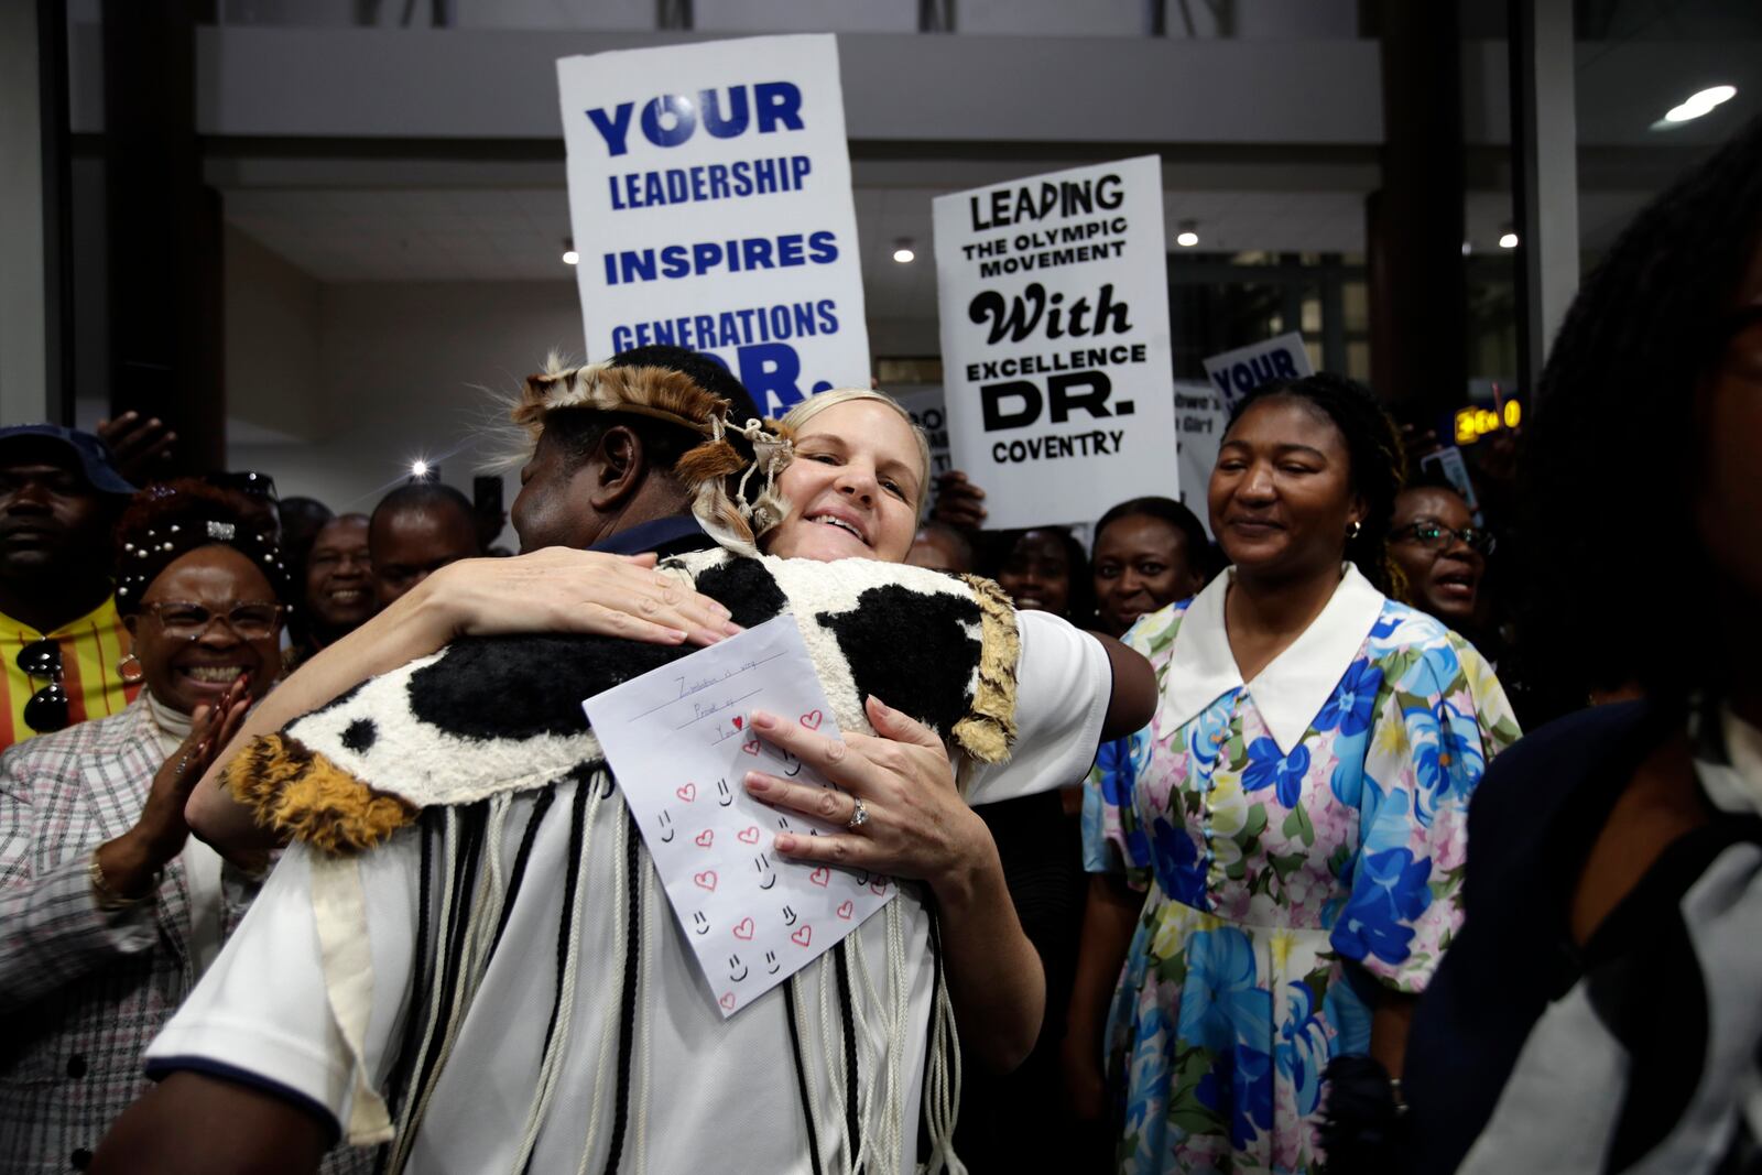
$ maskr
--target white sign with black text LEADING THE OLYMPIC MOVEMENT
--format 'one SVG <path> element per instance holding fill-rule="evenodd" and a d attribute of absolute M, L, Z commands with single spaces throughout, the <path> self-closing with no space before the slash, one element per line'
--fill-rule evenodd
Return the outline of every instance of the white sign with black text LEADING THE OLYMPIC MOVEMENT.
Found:
<path fill-rule="evenodd" d="M 948 439 L 992 527 L 1175 497 L 1154 155 L 936 201 Z"/>

